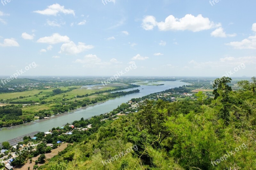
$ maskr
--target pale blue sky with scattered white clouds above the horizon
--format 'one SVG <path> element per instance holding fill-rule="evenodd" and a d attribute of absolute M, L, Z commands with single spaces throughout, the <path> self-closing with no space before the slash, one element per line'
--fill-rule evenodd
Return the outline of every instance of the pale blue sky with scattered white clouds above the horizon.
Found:
<path fill-rule="evenodd" d="M 254 0 L 2 0 L 0 75 L 252 77 L 255 6 Z"/>

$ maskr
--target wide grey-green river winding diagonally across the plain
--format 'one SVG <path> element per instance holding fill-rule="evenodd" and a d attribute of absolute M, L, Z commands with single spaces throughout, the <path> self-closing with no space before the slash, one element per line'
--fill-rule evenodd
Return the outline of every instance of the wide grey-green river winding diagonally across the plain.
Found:
<path fill-rule="evenodd" d="M 134 83 L 134 84 L 138 84 L 138 83 Z M 4 142 L 10 139 L 13 139 L 15 137 L 26 135 L 28 133 L 32 133 L 35 131 L 47 132 L 53 127 L 58 127 L 58 126 L 60 127 L 65 123 L 70 123 L 75 120 L 80 120 L 82 117 L 86 119 L 95 115 L 100 115 L 106 112 L 110 112 L 113 109 L 115 109 L 118 105 L 121 105 L 122 103 L 126 103 L 128 100 L 131 100 L 132 98 L 139 98 L 151 93 L 161 92 L 170 88 L 188 85 L 187 83 L 180 82 L 180 81 L 154 82 L 154 84 L 164 84 L 164 85 L 159 85 L 159 86 L 141 85 L 140 87 L 137 87 L 137 88 L 125 89 L 122 91 L 131 91 L 131 90 L 139 89 L 140 92 L 117 97 L 115 99 L 108 100 L 105 103 L 88 107 L 84 110 L 76 111 L 73 114 L 61 116 L 61 117 L 47 120 L 44 122 L 39 122 L 33 125 L 23 126 L 20 128 L 10 129 L 10 130 L 3 128 L 3 130 L 0 131 L 0 142 Z"/>

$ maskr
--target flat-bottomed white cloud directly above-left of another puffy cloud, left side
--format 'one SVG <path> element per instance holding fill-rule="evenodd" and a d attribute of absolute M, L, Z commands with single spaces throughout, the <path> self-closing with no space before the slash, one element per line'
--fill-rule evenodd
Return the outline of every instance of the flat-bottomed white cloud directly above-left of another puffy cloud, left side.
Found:
<path fill-rule="evenodd" d="M 47 44 L 57 44 L 57 43 L 61 43 L 61 42 L 69 42 L 69 38 L 68 36 L 61 36 L 58 33 L 54 33 L 52 34 L 52 36 L 49 37 L 42 37 L 40 39 L 38 39 L 36 42 L 40 42 L 40 43 L 47 43 Z"/>

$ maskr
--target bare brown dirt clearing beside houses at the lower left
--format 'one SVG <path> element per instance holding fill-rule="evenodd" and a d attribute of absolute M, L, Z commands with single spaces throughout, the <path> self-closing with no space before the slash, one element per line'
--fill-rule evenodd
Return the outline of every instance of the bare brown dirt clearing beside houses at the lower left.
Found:
<path fill-rule="evenodd" d="M 67 148 L 68 143 L 62 144 L 61 146 L 59 146 L 56 149 L 53 149 L 51 153 L 46 153 L 45 157 L 46 157 L 46 162 L 47 159 L 50 159 L 52 157 L 54 157 L 55 155 L 57 155 L 59 152 L 63 151 L 65 148 Z M 28 166 L 30 166 L 30 169 L 33 169 L 33 166 L 36 165 L 35 164 L 35 160 L 37 160 L 39 158 L 40 155 L 38 155 L 37 157 L 32 158 L 32 163 L 29 163 L 29 160 L 27 163 L 25 163 L 24 166 L 22 166 L 21 168 L 16 168 L 16 169 L 21 169 L 21 170 L 28 170 Z M 42 166 L 44 164 L 37 164 L 38 166 Z"/>

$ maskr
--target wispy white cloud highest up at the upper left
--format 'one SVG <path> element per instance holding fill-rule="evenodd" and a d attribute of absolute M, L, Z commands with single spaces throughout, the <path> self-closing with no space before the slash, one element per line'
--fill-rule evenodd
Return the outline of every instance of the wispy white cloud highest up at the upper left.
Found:
<path fill-rule="evenodd" d="M 60 13 L 64 13 L 64 14 L 72 14 L 75 16 L 75 11 L 71 10 L 71 9 L 65 9 L 64 6 L 60 6 L 60 4 L 52 4 L 50 6 L 48 6 L 48 8 L 46 8 L 45 10 L 42 11 L 33 11 L 35 13 L 39 13 L 42 15 L 54 15 L 56 16 L 59 12 Z"/>

